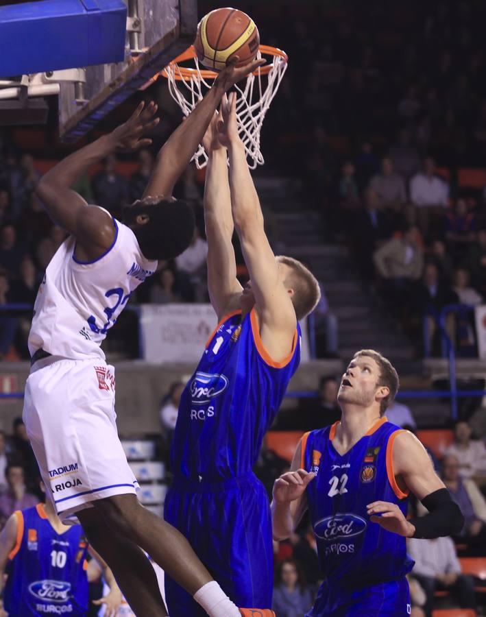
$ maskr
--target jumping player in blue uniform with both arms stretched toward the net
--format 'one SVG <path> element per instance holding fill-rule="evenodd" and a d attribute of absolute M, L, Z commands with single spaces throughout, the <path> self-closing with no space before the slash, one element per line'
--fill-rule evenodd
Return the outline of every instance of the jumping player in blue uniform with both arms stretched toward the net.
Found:
<path fill-rule="evenodd" d="M 223 590 L 263 615 L 271 614 L 271 524 L 252 468 L 299 365 L 297 320 L 313 310 L 319 285 L 301 263 L 271 250 L 235 106 L 234 95 L 223 97 L 204 141 L 208 288 L 219 323 L 182 393 L 164 513 Z M 250 274 L 245 289 L 236 280 L 233 229 Z M 202 615 L 169 577 L 166 600 L 171 617 Z"/>

